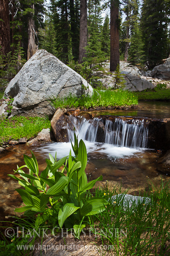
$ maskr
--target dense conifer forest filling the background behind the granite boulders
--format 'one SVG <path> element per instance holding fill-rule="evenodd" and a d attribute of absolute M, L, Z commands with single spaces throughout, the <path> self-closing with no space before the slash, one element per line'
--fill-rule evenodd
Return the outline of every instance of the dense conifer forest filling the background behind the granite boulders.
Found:
<path fill-rule="evenodd" d="M 107 60 L 151 70 L 170 56 L 170 0 L 0 0 L 1 90 L 38 49 L 88 82 Z"/>

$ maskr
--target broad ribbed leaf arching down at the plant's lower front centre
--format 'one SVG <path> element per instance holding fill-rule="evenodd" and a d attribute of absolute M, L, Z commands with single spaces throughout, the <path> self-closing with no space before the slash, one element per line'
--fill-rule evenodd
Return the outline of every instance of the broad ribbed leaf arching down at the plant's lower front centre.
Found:
<path fill-rule="evenodd" d="M 58 224 L 60 228 L 63 227 L 65 220 L 75 211 L 77 211 L 79 207 L 75 206 L 75 204 L 65 204 L 58 213 Z"/>

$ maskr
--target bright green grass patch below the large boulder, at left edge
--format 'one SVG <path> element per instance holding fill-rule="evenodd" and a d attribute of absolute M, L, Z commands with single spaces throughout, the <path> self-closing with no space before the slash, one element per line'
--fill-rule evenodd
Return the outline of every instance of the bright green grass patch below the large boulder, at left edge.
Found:
<path fill-rule="evenodd" d="M 0 117 L 0 145 L 8 140 L 34 137 L 43 128 L 50 128 L 49 120 L 40 117 Z"/>

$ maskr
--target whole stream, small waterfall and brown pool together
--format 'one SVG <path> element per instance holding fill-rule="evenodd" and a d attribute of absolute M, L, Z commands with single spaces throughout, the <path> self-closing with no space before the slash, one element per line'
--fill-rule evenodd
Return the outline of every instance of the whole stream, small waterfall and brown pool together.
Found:
<path fill-rule="evenodd" d="M 160 106 L 154 107 L 154 104 L 155 102 L 153 108 L 157 108 L 156 117 L 170 117 L 168 105 L 165 104 L 165 112 L 161 116 Z M 146 103 L 144 105 L 146 106 Z M 139 109 L 138 114 L 142 116 Z M 117 112 L 120 115 L 121 111 Z M 133 116 L 132 112 L 130 116 Z M 148 115 L 148 112 L 149 110 L 146 111 L 145 115 Z M 111 113 L 113 114 L 113 110 L 109 112 L 109 114 Z M 124 111 L 121 114 L 123 116 Z M 117 114 L 114 112 L 114 115 Z M 169 169 L 158 163 L 162 153 L 154 149 L 147 149 L 148 127 L 144 119 L 142 121 L 141 119 L 133 119 L 131 123 L 119 118 L 116 118 L 114 122 L 111 120 L 103 122 L 98 117 L 86 120 L 85 118 L 77 119 L 72 116 L 70 121 L 72 123 L 71 127 L 75 127 L 75 133 L 79 140 L 84 140 L 86 144 L 88 153 L 86 174 L 88 180 L 103 175 L 103 181 L 98 182 L 98 185 L 104 186 L 108 181 L 109 185 L 121 184 L 123 190 L 128 190 L 130 194 L 139 194 L 139 190 L 148 190 L 150 182 L 158 185 L 161 179 L 168 180 L 170 178 Z M 74 133 L 69 127 L 68 135 L 73 141 Z M 14 190 L 19 185 L 7 174 L 13 174 L 13 169 L 16 170 L 17 164 L 19 166 L 24 164 L 23 154 L 31 155 L 30 150 L 32 150 L 37 157 L 40 171 L 42 171 L 46 167 L 45 158 L 48 158 L 49 153 L 53 156 L 57 153 L 57 158 L 60 159 L 68 155 L 70 149 L 70 142 L 51 142 L 42 143 L 36 147 L 16 145 L 0 154 L 0 217 L 3 219 L 4 216 L 12 214 L 12 209 L 21 203 L 19 194 Z"/>

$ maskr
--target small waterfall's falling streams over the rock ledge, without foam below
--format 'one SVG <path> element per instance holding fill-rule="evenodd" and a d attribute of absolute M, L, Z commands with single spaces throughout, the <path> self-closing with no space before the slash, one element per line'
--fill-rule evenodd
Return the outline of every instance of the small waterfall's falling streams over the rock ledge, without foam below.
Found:
<path fill-rule="evenodd" d="M 148 128 L 144 120 L 133 119 L 128 123 L 127 120 L 124 121 L 120 118 L 115 118 L 115 121 L 101 118 L 86 120 L 70 116 L 70 122 L 72 127 L 75 127 L 75 133 L 79 140 L 104 142 L 116 147 L 133 149 L 147 147 Z M 68 127 L 68 136 L 74 141 L 74 132 L 70 126 Z M 103 137 L 102 141 L 99 141 L 98 137 Z"/>

